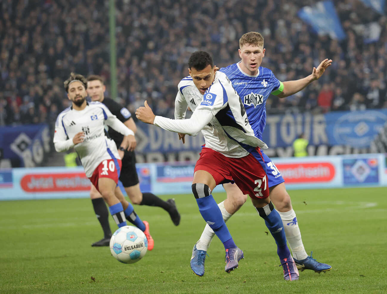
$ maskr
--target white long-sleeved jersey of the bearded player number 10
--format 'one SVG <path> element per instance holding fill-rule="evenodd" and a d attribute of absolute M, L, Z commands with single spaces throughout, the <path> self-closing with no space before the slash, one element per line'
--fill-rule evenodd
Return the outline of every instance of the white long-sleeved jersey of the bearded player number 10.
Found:
<path fill-rule="evenodd" d="M 80 111 L 65 109 L 55 123 L 55 149 L 60 152 L 74 147 L 88 178 L 103 160 L 120 159 L 115 142 L 105 136 L 104 124 L 123 135 L 133 135 L 105 104 L 97 101 L 87 103 Z M 72 139 L 79 132 L 85 133 L 84 141 L 74 145 Z"/>

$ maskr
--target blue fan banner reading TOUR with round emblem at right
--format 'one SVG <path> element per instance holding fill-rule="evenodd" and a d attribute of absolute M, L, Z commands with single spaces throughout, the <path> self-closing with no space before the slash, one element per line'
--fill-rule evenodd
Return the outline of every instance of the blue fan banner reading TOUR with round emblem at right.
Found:
<path fill-rule="evenodd" d="M 291 146 L 303 133 L 310 145 L 369 147 L 387 121 L 387 109 L 267 117 L 263 140 L 269 148 Z"/>

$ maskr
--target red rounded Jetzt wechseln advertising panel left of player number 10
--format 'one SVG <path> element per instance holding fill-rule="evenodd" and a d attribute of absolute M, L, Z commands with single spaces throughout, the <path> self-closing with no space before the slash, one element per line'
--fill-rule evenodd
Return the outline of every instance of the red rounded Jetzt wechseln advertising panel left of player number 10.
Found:
<path fill-rule="evenodd" d="M 84 173 L 26 174 L 20 181 L 26 192 L 87 191 L 90 184 Z"/>

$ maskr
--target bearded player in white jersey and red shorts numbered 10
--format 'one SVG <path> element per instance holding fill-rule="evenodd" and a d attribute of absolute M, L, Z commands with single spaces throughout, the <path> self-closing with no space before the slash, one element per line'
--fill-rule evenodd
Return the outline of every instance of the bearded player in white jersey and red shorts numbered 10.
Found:
<path fill-rule="evenodd" d="M 132 204 L 125 200 L 117 187 L 121 158 L 114 141 L 105 136 L 104 124 L 125 136 L 122 144 L 127 145 L 127 149 L 134 149 L 136 145 L 133 131 L 112 115 L 103 103 L 87 103 L 87 80 L 84 76 L 71 73 L 64 87 L 72 106 L 58 115 L 55 150 L 62 152 L 74 147 L 86 176 L 108 204 L 118 227 L 127 225 L 126 218 L 146 234 L 148 242 L 153 241 L 149 224 L 141 221 Z M 151 250 L 149 246 L 148 249 Z"/>

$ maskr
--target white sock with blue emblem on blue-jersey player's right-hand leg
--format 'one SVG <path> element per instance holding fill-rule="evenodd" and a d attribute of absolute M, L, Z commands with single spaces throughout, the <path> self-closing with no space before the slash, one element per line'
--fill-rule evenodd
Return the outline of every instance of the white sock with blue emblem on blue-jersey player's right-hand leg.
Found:
<path fill-rule="evenodd" d="M 305 251 L 304 244 L 301 240 L 301 232 L 298 227 L 298 221 L 294 210 L 288 212 L 278 212 L 281 215 L 282 222 L 284 224 L 286 239 L 288 240 L 289 247 L 293 253 L 293 257 L 296 260 L 303 260 L 308 257 L 307 251 Z M 295 221 L 293 221 L 295 220 Z"/>

